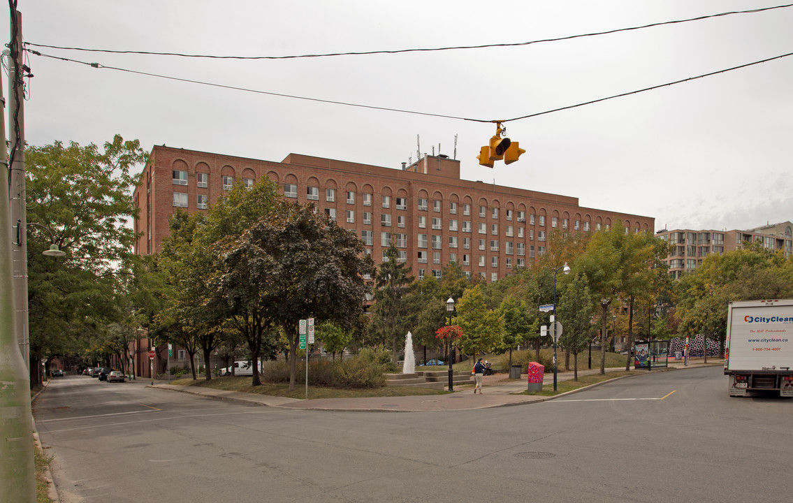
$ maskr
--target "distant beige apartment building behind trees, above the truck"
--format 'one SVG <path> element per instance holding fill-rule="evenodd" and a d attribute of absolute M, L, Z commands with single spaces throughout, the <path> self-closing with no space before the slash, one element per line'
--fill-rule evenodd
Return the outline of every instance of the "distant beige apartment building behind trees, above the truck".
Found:
<path fill-rule="evenodd" d="M 675 245 L 666 259 L 669 275 L 674 278 L 695 270 L 707 255 L 743 248 L 747 241 L 760 241 L 768 250 L 782 250 L 786 257 L 793 253 L 793 224 L 789 221 L 749 230 L 676 228 L 658 231 L 656 236 Z"/>

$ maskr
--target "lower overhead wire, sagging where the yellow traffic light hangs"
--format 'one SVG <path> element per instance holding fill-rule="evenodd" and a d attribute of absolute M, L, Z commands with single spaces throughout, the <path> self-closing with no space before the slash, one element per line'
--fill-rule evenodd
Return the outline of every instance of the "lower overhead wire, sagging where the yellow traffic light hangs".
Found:
<path fill-rule="evenodd" d="M 510 122 L 510 121 L 520 121 L 522 119 L 528 119 L 528 118 L 531 118 L 531 117 L 538 117 L 540 115 L 546 115 L 547 113 L 561 112 L 561 110 L 573 109 L 573 108 L 577 108 L 579 106 L 592 105 L 594 103 L 605 102 L 607 100 L 614 99 L 614 98 L 622 98 L 623 96 L 628 96 L 630 94 L 638 94 L 638 93 L 643 93 L 643 92 L 648 91 L 648 90 L 659 89 L 661 87 L 674 86 L 675 84 L 685 83 L 685 82 L 688 82 L 688 81 L 691 81 L 691 80 L 695 80 L 695 79 L 703 79 L 704 77 L 710 77 L 711 75 L 718 75 L 718 74 L 721 74 L 721 73 L 726 73 L 728 71 L 738 70 L 740 68 L 751 67 L 753 65 L 760 64 L 760 63 L 768 63 L 769 61 L 780 60 L 782 58 L 786 58 L 787 56 L 793 56 L 793 52 L 788 52 L 787 54 L 781 54 L 780 56 L 773 56 L 773 57 L 767 58 L 765 60 L 759 60 L 759 61 L 753 61 L 752 63 L 741 64 L 741 65 L 739 65 L 737 67 L 724 68 L 723 70 L 711 71 L 711 72 L 708 72 L 708 73 L 705 73 L 705 74 L 702 74 L 702 75 L 695 75 L 693 77 L 688 77 L 687 79 L 675 80 L 675 81 L 664 83 L 664 84 L 658 84 L 657 86 L 646 87 L 644 89 L 638 89 L 638 90 L 628 91 L 626 93 L 614 94 L 614 95 L 611 95 L 611 96 L 607 96 L 605 98 L 598 98 L 598 99 L 595 99 L 595 100 L 592 100 L 592 101 L 589 101 L 589 102 L 578 103 L 576 105 L 562 106 L 560 108 L 550 109 L 550 110 L 546 110 L 544 112 L 529 113 L 527 115 L 522 115 L 522 116 L 519 116 L 519 117 L 512 117 L 511 119 L 477 119 L 477 118 L 472 118 L 472 117 L 459 117 L 459 116 L 454 116 L 454 115 L 446 115 L 446 114 L 442 114 L 442 113 L 419 112 L 417 110 L 396 109 L 396 108 L 389 108 L 389 107 L 385 107 L 385 106 L 363 105 L 361 103 L 339 102 L 339 101 L 321 99 L 321 98 L 309 98 L 309 97 L 306 97 L 306 96 L 297 96 L 297 95 L 294 95 L 294 94 L 274 93 L 274 92 L 266 91 L 266 90 L 249 89 L 247 87 L 228 86 L 228 85 L 224 85 L 224 84 L 209 83 L 209 82 L 205 82 L 205 81 L 201 81 L 201 80 L 182 79 L 180 77 L 174 77 L 174 76 L 170 76 L 170 75 L 159 75 L 159 74 L 155 74 L 155 73 L 149 73 L 147 71 L 129 70 L 128 68 L 120 68 L 120 67 L 108 67 L 108 66 L 105 66 L 105 65 L 102 65 L 102 64 L 99 64 L 99 63 L 88 63 L 86 61 L 71 60 L 70 58 L 64 58 L 62 56 L 52 56 L 52 55 L 49 55 L 49 54 L 43 54 L 41 52 L 34 51 L 33 49 L 25 49 L 25 50 L 27 50 L 29 52 L 32 52 L 36 56 L 42 56 L 42 57 L 45 57 L 45 58 L 51 58 L 53 60 L 62 60 L 62 61 L 67 61 L 68 63 L 79 63 L 79 64 L 83 64 L 83 65 L 86 65 L 86 66 L 89 66 L 89 67 L 93 67 L 93 68 L 102 68 L 102 69 L 107 69 L 107 70 L 124 71 L 126 73 L 132 73 L 132 74 L 136 74 L 136 75 L 146 75 L 146 76 L 155 77 L 155 78 L 158 78 L 158 79 L 175 80 L 175 81 L 184 82 L 184 83 L 200 84 L 202 86 L 220 87 L 221 89 L 241 90 L 241 91 L 244 91 L 244 92 L 247 92 L 247 93 L 267 94 L 267 95 L 270 95 L 270 96 L 278 96 L 278 97 L 281 97 L 281 98 L 300 99 L 300 100 L 305 100 L 305 101 L 309 101 L 309 102 L 329 103 L 331 105 L 355 106 L 355 107 L 358 107 L 358 108 L 384 110 L 384 111 L 387 111 L 387 112 L 412 113 L 414 115 L 423 115 L 423 116 L 428 116 L 428 117 L 442 117 L 442 118 L 446 118 L 446 119 L 458 119 L 460 121 L 473 121 L 473 122 Z"/>

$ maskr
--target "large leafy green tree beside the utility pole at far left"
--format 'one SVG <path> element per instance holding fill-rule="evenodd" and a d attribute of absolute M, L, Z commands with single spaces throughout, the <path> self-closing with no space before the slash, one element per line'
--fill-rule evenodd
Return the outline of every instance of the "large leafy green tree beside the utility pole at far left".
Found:
<path fill-rule="evenodd" d="M 132 169 L 145 163 L 137 140 L 114 136 L 102 149 L 75 142 L 25 152 L 31 385 L 40 361 L 88 347 L 127 315 L 120 278 L 136 256 Z M 55 244 L 67 255 L 41 255 Z"/>

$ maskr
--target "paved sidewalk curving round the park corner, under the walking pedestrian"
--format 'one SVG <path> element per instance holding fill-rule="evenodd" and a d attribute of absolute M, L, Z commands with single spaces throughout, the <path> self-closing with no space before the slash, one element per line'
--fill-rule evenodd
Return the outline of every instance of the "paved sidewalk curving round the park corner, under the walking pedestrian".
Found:
<path fill-rule="evenodd" d="M 707 367 L 723 365 L 718 358 L 709 358 Z M 689 360 L 688 366 L 682 361 L 670 361 L 668 367 L 658 367 L 657 371 L 684 368 L 704 367 L 702 359 Z M 623 368 L 607 368 L 606 372 L 624 371 Z M 655 371 L 655 370 L 653 370 Z M 642 375 L 646 371 L 631 371 L 633 375 Z M 599 374 L 600 368 L 578 371 L 578 375 Z M 328 411 L 381 411 L 381 412 L 431 412 L 451 410 L 490 409 L 509 405 L 525 405 L 534 402 L 553 400 L 556 397 L 519 395 L 527 390 L 527 377 L 520 379 L 506 378 L 507 374 L 494 374 L 484 377 L 482 394 L 473 394 L 473 381 L 470 384 L 456 386 L 454 393 L 443 395 L 418 395 L 409 397 L 365 397 L 365 398 L 320 398 L 317 400 L 301 400 L 297 398 L 270 397 L 267 395 L 239 393 L 236 391 L 212 390 L 197 386 L 174 386 L 155 384 L 147 386 L 158 390 L 172 390 L 182 393 L 196 394 L 217 400 L 236 401 L 251 405 L 268 405 L 285 409 L 328 410 Z M 545 383 L 553 382 L 554 374 L 545 374 Z M 557 382 L 573 379 L 573 372 L 558 372 Z M 583 390 L 585 388 L 581 388 Z M 571 391 L 575 393 L 579 390 Z"/>

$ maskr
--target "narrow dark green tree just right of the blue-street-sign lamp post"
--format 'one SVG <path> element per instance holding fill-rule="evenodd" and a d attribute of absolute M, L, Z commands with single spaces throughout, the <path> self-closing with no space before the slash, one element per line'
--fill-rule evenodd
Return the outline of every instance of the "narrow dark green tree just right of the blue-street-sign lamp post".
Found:
<path fill-rule="evenodd" d="M 576 275 L 565 287 L 558 307 L 565 321 L 560 338 L 562 347 L 573 353 L 574 379 L 578 380 L 578 353 L 592 343 L 592 316 L 595 312 L 586 275 Z"/>

